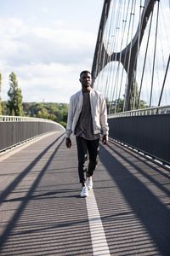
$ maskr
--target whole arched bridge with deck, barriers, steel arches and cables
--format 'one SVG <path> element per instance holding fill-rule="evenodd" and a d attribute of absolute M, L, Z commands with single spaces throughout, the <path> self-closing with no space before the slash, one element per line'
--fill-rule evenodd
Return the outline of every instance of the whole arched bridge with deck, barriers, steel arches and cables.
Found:
<path fill-rule="evenodd" d="M 155 37 L 147 95 L 149 39 L 145 56 L 140 49 L 144 37 L 151 37 L 152 22 L 158 34 L 158 20 L 152 20 L 162 15 L 162 6 L 160 1 L 135 3 L 104 1 L 92 73 L 94 87 L 107 99 L 110 140 L 100 144 L 88 198 L 80 197 L 75 138 L 72 148 L 65 148 L 61 125 L 0 117 L 0 255 L 170 255 L 169 52 L 157 90 Z M 126 45 L 121 29 L 127 37 L 132 32 Z M 142 100 L 147 106 L 141 109 Z"/>

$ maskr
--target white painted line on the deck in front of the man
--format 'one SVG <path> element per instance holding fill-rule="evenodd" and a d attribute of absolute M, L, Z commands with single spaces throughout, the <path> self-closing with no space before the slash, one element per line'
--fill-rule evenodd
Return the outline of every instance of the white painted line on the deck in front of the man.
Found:
<path fill-rule="evenodd" d="M 89 196 L 86 197 L 86 205 L 88 209 L 88 220 L 90 233 L 92 238 L 92 247 L 94 256 L 111 256 L 106 238 L 105 230 L 99 215 L 99 209 L 94 196 L 94 190 L 89 191 Z"/>

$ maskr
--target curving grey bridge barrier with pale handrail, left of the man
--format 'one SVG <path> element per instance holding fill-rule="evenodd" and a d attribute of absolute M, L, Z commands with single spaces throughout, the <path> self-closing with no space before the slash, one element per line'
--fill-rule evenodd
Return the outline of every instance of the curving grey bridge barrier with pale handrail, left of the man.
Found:
<path fill-rule="evenodd" d="M 49 131 L 63 133 L 65 128 L 48 119 L 0 116 L 0 151 Z"/>

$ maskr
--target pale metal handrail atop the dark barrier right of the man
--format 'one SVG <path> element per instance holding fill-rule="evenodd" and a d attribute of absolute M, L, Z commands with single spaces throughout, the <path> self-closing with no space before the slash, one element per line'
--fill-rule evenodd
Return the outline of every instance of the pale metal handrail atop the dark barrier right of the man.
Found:
<path fill-rule="evenodd" d="M 151 115 L 151 114 L 167 114 L 170 113 L 170 105 L 153 107 L 153 108 L 143 108 L 136 110 L 129 110 L 120 113 L 111 113 L 108 115 L 109 119 L 119 118 L 119 117 L 129 117 L 129 116 L 140 116 L 140 115 Z"/>

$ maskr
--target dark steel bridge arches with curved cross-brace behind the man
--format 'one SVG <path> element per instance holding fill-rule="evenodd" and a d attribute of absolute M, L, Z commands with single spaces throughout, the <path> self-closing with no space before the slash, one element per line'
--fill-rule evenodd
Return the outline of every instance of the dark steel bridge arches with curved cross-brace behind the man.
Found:
<path fill-rule="evenodd" d="M 93 78 L 96 79 L 98 74 L 110 61 L 121 61 L 122 66 L 127 72 L 127 84 L 126 84 L 126 93 L 125 93 L 125 108 L 124 110 L 130 110 L 130 100 L 131 92 L 133 91 L 133 80 L 134 73 L 136 71 L 136 64 L 138 58 L 138 50 L 144 36 L 144 29 L 147 25 L 147 22 L 150 18 L 150 14 L 154 9 L 155 0 L 145 0 L 144 10 L 142 12 L 140 26 L 138 26 L 137 32 L 135 33 L 132 42 L 127 45 L 122 52 L 116 53 L 113 52 L 111 56 L 105 50 L 103 44 L 103 36 L 105 32 L 105 24 L 109 15 L 109 10 L 111 6 L 111 0 L 105 0 L 102 16 L 99 25 L 99 33 L 97 38 L 97 44 L 94 52 L 94 62 L 92 67 Z"/>

